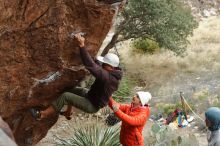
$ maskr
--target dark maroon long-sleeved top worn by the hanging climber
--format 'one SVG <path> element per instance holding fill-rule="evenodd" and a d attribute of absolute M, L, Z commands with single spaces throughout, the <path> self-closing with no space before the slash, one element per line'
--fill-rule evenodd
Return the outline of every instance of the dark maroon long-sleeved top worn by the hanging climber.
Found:
<path fill-rule="evenodd" d="M 108 104 L 109 97 L 118 89 L 122 71 L 121 69 L 104 70 L 94 62 L 85 48 L 80 48 L 80 55 L 86 69 L 95 77 L 87 98 L 95 107 L 102 108 Z"/>

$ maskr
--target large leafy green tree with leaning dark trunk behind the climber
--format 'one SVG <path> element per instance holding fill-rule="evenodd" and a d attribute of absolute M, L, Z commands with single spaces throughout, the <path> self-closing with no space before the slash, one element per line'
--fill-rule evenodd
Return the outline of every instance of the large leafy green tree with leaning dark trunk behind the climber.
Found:
<path fill-rule="evenodd" d="M 102 55 L 118 42 L 147 38 L 177 55 L 183 53 L 198 23 L 179 0 L 129 0 L 118 17 L 115 34 Z"/>

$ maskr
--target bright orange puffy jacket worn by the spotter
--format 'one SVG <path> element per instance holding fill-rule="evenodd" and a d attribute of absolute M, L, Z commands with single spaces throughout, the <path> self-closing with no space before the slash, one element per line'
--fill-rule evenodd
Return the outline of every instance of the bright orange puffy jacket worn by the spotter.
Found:
<path fill-rule="evenodd" d="M 116 102 L 110 98 L 109 106 L 112 108 Z M 118 103 L 116 103 L 118 104 Z M 129 104 L 118 104 L 119 110 L 115 115 L 122 120 L 120 142 L 123 146 L 144 146 L 142 130 L 150 116 L 148 106 L 132 107 Z"/>

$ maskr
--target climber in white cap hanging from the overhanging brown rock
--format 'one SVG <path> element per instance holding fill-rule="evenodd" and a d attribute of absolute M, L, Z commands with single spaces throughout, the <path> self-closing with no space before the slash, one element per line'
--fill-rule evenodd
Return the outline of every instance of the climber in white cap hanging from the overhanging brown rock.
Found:
<path fill-rule="evenodd" d="M 75 88 L 72 92 L 63 93 L 45 110 L 32 108 L 31 114 L 37 120 L 60 113 L 64 105 L 68 105 L 67 110 L 62 113 L 67 119 L 71 119 L 72 106 L 87 113 L 96 113 L 108 104 L 109 98 L 118 89 L 122 78 L 122 70 L 118 67 L 118 56 L 113 53 L 108 53 L 104 57 L 98 56 L 97 60 L 100 62 L 98 64 L 85 48 L 85 38 L 80 34 L 76 34 L 74 38 L 79 46 L 82 63 L 95 77 L 95 81 L 89 90 Z"/>

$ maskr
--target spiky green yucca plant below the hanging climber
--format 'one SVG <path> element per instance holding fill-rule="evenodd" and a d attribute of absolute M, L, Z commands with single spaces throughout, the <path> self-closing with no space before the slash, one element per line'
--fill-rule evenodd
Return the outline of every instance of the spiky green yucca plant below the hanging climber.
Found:
<path fill-rule="evenodd" d="M 72 138 L 59 139 L 57 146 L 121 146 L 119 126 L 89 124 L 75 128 Z"/>

